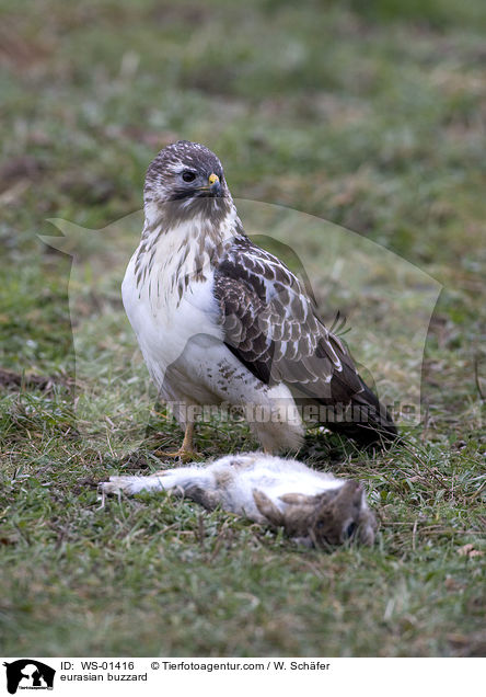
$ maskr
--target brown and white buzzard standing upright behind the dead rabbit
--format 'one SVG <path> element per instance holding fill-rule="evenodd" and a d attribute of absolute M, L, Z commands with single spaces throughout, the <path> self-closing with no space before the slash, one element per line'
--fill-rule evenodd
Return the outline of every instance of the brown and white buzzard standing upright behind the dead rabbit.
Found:
<path fill-rule="evenodd" d="M 206 405 L 243 408 L 267 453 L 300 447 L 302 404 L 363 446 L 396 437 L 298 277 L 245 235 L 213 152 L 187 140 L 165 147 L 143 203 L 121 293 L 159 396 L 185 427 L 171 455 L 192 458 Z"/>

